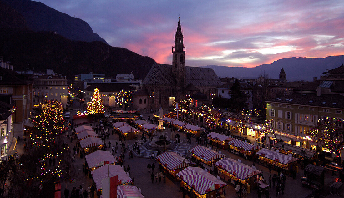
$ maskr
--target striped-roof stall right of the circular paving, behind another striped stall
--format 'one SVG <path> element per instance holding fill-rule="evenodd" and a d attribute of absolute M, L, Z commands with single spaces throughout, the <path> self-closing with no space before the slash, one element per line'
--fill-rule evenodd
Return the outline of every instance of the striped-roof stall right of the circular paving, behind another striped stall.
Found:
<path fill-rule="evenodd" d="M 191 157 L 195 158 L 196 161 L 203 163 L 207 168 L 212 167 L 212 165 L 220 160 L 223 157 L 226 157 L 224 154 L 220 154 L 215 150 L 204 146 L 195 146 L 190 149 Z"/>

